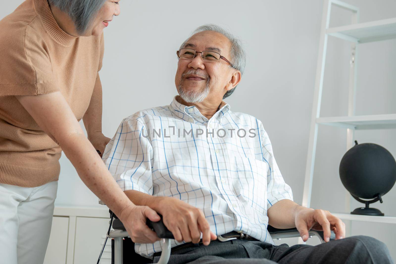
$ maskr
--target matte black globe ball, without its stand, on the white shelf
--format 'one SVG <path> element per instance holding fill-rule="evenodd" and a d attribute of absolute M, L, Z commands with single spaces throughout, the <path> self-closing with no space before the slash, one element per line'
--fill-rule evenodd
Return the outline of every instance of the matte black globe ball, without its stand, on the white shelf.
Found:
<path fill-rule="evenodd" d="M 341 182 L 352 196 L 372 199 L 383 196 L 395 184 L 396 161 L 382 146 L 356 142 L 343 156 L 339 172 Z"/>

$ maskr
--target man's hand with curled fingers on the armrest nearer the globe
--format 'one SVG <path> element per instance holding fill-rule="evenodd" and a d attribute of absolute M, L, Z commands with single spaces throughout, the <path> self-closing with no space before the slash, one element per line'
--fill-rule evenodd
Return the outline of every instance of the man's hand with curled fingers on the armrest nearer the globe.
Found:
<path fill-rule="evenodd" d="M 345 224 L 340 218 L 331 215 L 329 211 L 314 210 L 299 206 L 295 215 L 295 225 L 300 232 L 303 241 L 308 240 L 308 230 L 323 231 L 324 241 L 329 242 L 331 230 L 335 233 L 335 239 L 345 237 Z"/>

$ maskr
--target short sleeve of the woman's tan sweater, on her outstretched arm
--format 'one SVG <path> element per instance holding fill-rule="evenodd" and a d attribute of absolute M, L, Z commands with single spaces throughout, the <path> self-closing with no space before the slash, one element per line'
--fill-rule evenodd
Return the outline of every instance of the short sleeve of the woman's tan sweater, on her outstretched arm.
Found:
<path fill-rule="evenodd" d="M 0 34 L 0 96 L 58 91 L 46 43 L 27 25 Z"/>

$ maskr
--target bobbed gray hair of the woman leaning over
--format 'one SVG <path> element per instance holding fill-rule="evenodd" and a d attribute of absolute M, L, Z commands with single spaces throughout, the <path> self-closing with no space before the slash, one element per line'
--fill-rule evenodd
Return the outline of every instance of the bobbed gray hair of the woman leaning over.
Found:
<path fill-rule="evenodd" d="M 67 13 L 73 20 L 77 32 L 82 34 L 88 29 L 106 0 L 48 0 L 48 2 Z"/>

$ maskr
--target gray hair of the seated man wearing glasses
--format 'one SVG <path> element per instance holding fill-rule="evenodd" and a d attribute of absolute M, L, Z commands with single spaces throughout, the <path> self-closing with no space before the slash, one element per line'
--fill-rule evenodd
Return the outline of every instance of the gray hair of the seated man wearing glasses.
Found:
<path fill-rule="evenodd" d="M 232 63 L 232 68 L 239 70 L 241 72 L 241 76 L 242 76 L 242 74 L 244 73 L 244 70 L 245 70 L 245 65 L 246 65 L 246 52 L 245 52 L 244 46 L 242 45 L 242 42 L 240 39 L 236 38 L 228 30 L 225 30 L 224 28 L 222 28 L 218 25 L 206 24 L 206 25 L 202 25 L 202 26 L 196 28 L 191 33 L 191 35 L 187 38 L 187 40 L 185 40 L 185 42 L 183 42 L 183 44 L 181 44 L 180 49 L 185 47 L 188 39 L 191 38 L 192 35 L 194 35 L 198 32 L 202 32 L 202 31 L 219 32 L 220 34 L 226 36 L 230 40 L 230 42 L 231 42 L 230 62 Z M 227 91 L 225 93 L 225 95 L 223 96 L 223 99 L 230 96 L 234 92 L 235 88 L 236 88 L 236 86 L 234 88 L 232 88 L 231 90 Z"/>

